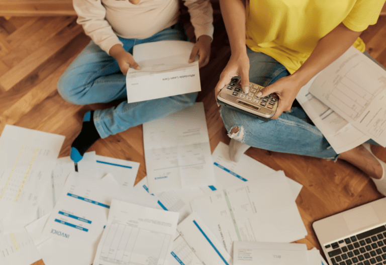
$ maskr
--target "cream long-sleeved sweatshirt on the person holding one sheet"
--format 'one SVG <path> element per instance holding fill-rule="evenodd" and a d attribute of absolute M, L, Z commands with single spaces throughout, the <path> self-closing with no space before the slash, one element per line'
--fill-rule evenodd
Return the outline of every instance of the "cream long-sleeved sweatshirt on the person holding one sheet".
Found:
<path fill-rule="evenodd" d="M 213 38 L 213 10 L 210 0 L 184 0 L 198 39 Z M 77 23 L 104 51 L 126 39 L 145 39 L 178 22 L 178 0 L 73 0 Z"/>

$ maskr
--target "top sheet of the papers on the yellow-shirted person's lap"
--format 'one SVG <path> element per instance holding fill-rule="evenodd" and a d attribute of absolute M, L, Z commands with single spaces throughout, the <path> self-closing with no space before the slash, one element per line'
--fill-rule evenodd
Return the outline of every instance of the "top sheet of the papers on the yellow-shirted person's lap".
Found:
<path fill-rule="evenodd" d="M 386 71 L 350 47 L 327 66 L 309 92 L 386 147 Z"/>

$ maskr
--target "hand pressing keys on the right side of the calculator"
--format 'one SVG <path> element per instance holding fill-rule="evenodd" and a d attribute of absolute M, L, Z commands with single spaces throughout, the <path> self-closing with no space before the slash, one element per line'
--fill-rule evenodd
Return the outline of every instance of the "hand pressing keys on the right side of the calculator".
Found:
<path fill-rule="evenodd" d="M 265 97 L 272 93 L 278 96 L 277 109 L 271 118 L 272 120 L 276 120 L 281 113 L 291 110 L 292 104 L 301 88 L 302 85 L 300 82 L 293 75 L 288 75 L 264 87 L 260 90 L 261 94 L 257 93 L 256 96 Z"/>

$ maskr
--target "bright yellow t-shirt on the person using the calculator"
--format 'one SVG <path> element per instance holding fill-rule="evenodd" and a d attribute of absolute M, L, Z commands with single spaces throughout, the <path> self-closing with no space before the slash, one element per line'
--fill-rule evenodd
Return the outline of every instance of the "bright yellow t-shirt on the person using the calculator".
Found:
<path fill-rule="evenodd" d="M 294 73 L 318 41 L 341 22 L 363 31 L 376 23 L 384 0 L 250 0 L 246 44 Z M 364 51 L 358 38 L 353 45 Z"/>

